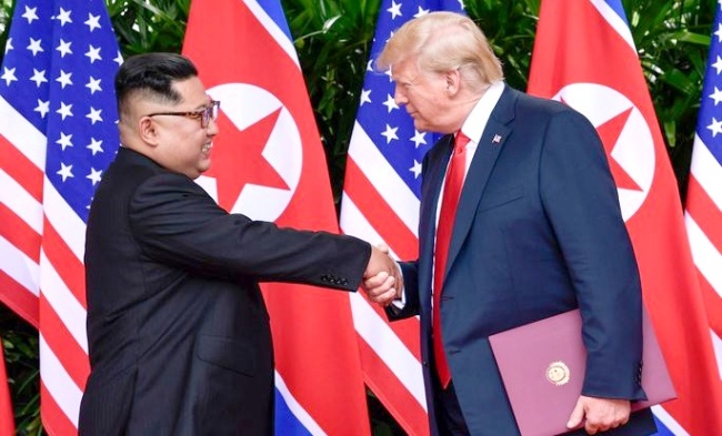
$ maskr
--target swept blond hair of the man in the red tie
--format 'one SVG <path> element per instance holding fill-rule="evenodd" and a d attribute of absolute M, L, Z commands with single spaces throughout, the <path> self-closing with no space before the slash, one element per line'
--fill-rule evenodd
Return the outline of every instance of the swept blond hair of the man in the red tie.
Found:
<path fill-rule="evenodd" d="M 484 33 L 460 13 L 431 12 L 408 21 L 387 42 L 377 69 L 385 71 L 411 58 L 415 58 L 422 71 L 459 70 L 464 82 L 475 91 L 504 78 L 501 61 Z"/>

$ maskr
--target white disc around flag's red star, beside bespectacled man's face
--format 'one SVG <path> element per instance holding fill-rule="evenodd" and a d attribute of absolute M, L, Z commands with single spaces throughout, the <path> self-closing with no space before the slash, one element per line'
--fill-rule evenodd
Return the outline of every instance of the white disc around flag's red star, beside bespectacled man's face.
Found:
<path fill-rule="evenodd" d="M 248 183 L 230 211 L 242 213 L 253 220 L 275 221 L 291 202 L 303 168 L 303 143 L 291 112 L 268 90 L 248 83 L 220 84 L 209 89 L 208 94 L 213 100 L 222 102 L 223 114 L 239 131 L 248 129 L 280 109 L 275 126 L 261 154 L 289 189 L 281 190 Z M 214 195 L 215 182 L 210 179 L 204 178 L 198 182 L 218 200 Z"/>

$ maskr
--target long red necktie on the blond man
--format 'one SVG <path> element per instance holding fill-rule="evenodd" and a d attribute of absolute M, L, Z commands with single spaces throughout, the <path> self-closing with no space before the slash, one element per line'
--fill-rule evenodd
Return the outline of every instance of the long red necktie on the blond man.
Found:
<path fill-rule="evenodd" d="M 434 250 L 434 274 L 433 274 L 433 353 L 437 363 L 439 381 L 443 387 L 449 386 L 451 373 L 449 363 L 443 351 L 441 341 L 441 290 L 447 268 L 447 258 L 449 257 L 449 243 L 451 242 L 451 231 L 457 215 L 457 205 L 461 195 L 461 186 L 464 184 L 464 173 L 467 172 L 467 153 L 465 148 L 469 138 L 461 133 L 457 134 L 454 151 L 451 155 L 447 180 L 444 181 L 443 197 L 441 200 L 441 212 L 439 213 L 439 224 L 437 225 L 437 246 Z"/>

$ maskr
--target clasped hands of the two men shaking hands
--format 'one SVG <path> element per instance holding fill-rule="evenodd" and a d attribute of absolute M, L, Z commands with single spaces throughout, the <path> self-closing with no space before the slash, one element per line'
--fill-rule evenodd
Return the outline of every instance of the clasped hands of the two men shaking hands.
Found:
<path fill-rule="evenodd" d="M 389 256 L 389 247 L 371 246 L 369 265 L 363 273 L 363 291 L 369 300 L 382 306 L 401 298 L 403 275 L 397 262 Z"/>

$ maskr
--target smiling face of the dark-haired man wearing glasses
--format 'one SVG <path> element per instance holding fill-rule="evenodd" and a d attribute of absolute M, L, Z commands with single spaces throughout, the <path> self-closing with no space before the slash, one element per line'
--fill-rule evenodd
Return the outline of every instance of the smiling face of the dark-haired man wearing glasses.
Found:
<path fill-rule="evenodd" d="M 200 79 L 191 78 L 174 84 L 182 100 L 178 104 L 154 104 L 159 112 L 198 112 L 211 105 Z M 205 128 L 200 118 L 158 114 L 146 116 L 152 123 L 156 148 L 152 159 L 163 168 L 197 179 L 211 165 L 211 148 L 218 124 L 211 118 Z"/>

